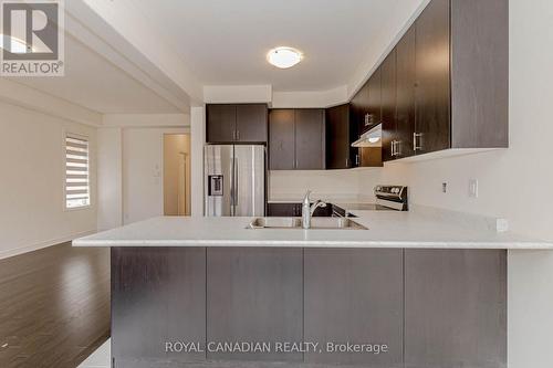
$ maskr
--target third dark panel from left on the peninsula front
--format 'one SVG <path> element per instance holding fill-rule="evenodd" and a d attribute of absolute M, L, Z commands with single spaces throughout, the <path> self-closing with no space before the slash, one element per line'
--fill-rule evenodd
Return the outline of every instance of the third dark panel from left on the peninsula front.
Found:
<path fill-rule="evenodd" d="M 403 251 L 304 250 L 306 364 L 403 367 Z M 385 354 L 328 353 L 326 343 L 385 344 Z M 326 365 L 328 366 L 326 366 Z"/>

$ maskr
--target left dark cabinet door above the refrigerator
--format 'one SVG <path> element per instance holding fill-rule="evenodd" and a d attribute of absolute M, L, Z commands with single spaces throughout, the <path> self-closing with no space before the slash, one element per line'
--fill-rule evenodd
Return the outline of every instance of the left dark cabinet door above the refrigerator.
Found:
<path fill-rule="evenodd" d="M 234 141 L 237 108 L 236 105 L 207 105 L 206 107 L 207 143 Z"/>

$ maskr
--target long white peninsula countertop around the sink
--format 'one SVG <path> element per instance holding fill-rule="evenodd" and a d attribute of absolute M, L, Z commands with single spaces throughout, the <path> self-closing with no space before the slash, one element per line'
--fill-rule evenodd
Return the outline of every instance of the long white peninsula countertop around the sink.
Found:
<path fill-rule="evenodd" d="M 353 211 L 368 230 L 247 229 L 252 218 L 159 217 L 73 241 L 74 246 L 552 249 L 492 230 L 490 219 L 441 210 Z"/>

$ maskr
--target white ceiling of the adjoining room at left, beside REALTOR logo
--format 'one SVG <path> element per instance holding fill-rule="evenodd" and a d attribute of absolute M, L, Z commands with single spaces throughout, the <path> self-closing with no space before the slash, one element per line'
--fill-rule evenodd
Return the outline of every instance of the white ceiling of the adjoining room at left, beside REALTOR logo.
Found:
<path fill-rule="evenodd" d="M 179 113 L 177 107 L 67 34 L 65 76 L 11 80 L 102 114 Z"/>

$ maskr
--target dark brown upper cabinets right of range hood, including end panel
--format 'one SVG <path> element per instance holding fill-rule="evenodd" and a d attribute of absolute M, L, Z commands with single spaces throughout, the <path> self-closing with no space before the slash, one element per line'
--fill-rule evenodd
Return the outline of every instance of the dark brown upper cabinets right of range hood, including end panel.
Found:
<path fill-rule="evenodd" d="M 380 66 L 385 160 L 509 147 L 508 34 L 508 0 L 430 1 L 393 51 L 395 127 Z"/>

